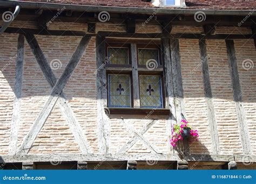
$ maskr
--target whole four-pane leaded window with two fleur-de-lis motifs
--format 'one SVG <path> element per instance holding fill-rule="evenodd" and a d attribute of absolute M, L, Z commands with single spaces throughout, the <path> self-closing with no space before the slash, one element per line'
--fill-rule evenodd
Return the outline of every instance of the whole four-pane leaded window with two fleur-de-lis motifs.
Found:
<path fill-rule="evenodd" d="M 108 43 L 109 108 L 164 108 L 163 65 L 158 44 Z M 147 67 L 149 61 L 153 68 Z"/>

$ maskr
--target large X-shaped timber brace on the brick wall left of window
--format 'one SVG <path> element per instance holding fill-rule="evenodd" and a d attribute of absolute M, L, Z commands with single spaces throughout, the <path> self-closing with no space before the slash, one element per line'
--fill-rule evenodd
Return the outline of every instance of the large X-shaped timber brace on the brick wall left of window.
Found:
<path fill-rule="evenodd" d="M 80 41 L 78 47 L 76 48 L 75 53 L 73 53 L 68 65 L 66 66 L 62 76 L 60 76 L 59 80 L 57 81 L 55 75 L 53 74 L 51 67 L 49 66 L 48 61 L 46 60 L 43 51 L 39 47 L 37 40 L 33 34 L 26 33 L 25 34 L 26 40 L 32 50 L 32 53 L 35 55 L 37 63 L 41 68 L 46 80 L 49 82 L 50 86 L 52 87 L 51 94 L 48 100 L 45 102 L 42 110 L 39 112 L 35 122 L 33 123 L 28 135 L 23 140 L 21 147 L 19 147 L 18 154 L 28 154 L 33 141 L 35 141 L 38 133 L 43 128 L 46 119 L 50 115 L 51 110 L 55 106 L 57 100 L 62 111 L 62 115 L 66 118 L 69 123 L 70 129 L 75 137 L 78 145 L 82 151 L 82 153 L 90 153 L 90 147 L 87 145 L 86 137 L 82 132 L 82 128 L 80 128 L 75 115 L 65 101 L 65 96 L 63 93 L 63 89 L 66 83 L 69 81 L 70 76 L 72 75 L 73 71 L 75 70 L 76 66 L 78 65 L 79 60 L 82 58 L 85 48 L 89 44 L 91 37 L 84 36 Z M 60 97 L 60 98 L 59 98 Z"/>

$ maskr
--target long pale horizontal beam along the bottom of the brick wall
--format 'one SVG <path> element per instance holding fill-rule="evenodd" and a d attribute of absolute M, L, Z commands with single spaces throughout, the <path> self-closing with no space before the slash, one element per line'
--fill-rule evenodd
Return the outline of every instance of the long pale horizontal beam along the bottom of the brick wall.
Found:
<path fill-rule="evenodd" d="M 158 161 L 206 161 L 206 162 L 229 162 L 234 161 L 234 155 L 217 155 L 217 154 L 191 154 L 183 155 L 180 158 L 179 154 L 26 154 L 26 155 L 1 155 L 0 162 L 50 162 L 56 159 L 61 161 L 125 161 L 125 160 L 158 160 Z M 242 162 L 243 158 L 238 157 L 237 162 Z M 256 155 L 251 158 L 251 161 L 256 162 Z"/>

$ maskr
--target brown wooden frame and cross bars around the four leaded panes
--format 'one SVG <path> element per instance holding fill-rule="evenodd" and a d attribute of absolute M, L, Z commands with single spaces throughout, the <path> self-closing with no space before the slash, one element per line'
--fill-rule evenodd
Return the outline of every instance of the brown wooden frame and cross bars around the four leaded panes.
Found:
<path fill-rule="evenodd" d="M 107 79 L 107 105 L 109 107 L 109 75 L 110 74 L 129 74 L 130 75 L 130 91 L 131 91 L 131 108 L 110 108 L 110 111 L 114 111 L 115 114 L 129 114 L 129 109 L 137 109 L 140 114 L 149 112 L 150 109 L 154 108 L 141 108 L 140 107 L 140 89 L 139 89 L 139 76 L 140 75 L 159 75 L 161 77 L 161 100 L 162 108 L 156 108 L 156 114 L 169 114 L 169 109 L 166 109 L 166 96 L 165 96 L 165 80 L 164 80 L 164 63 L 161 56 L 161 45 L 160 44 L 139 44 L 136 42 L 122 43 L 108 43 L 106 41 L 106 57 L 109 58 L 109 48 L 128 48 L 129 49 L 129 65 L 114 65 L 107 63 L 106 65 L 106 79 Z M 149 70 L 145 65 L 138 65 L 138 51 L 139 49 L 158 49 L 159 65 L 154 70 Z M 112 109 L 112 110 L 111 110 Z M 119 110 L 120 109 L 120 113 Z M 127 112 L 125 112 L 127 109 Z"/>

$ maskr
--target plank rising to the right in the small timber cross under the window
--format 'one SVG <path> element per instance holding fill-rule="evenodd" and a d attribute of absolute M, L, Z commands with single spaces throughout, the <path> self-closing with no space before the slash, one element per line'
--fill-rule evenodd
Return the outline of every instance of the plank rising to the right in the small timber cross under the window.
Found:
<path fill-rule="evenodd" d="M 151 128 L 151 126 L 153 126 L 153 124 L 156 123 L 156 122 L 157 121 L 153 119 L 152 121 L 147 123 L 144 126 L 144 128 L 139 131 L 139 133 L 141 135 L 144 135 L 144 133 L 146 133 L 146 131 L 149 130 Z M 139 138 L 134 135 L 122 148 L 120 148 L 118 153 L 125 153 L 125 152 L 127 152 L 135 143 L 137 143 L 138 140 L 139 140 Z"/>

